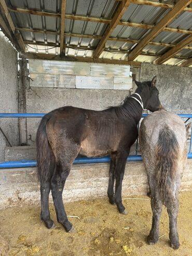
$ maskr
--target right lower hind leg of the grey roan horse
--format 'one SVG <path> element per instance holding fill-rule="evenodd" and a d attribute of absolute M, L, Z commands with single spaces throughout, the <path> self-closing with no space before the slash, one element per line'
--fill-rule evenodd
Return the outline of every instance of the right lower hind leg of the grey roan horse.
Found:
<path fill-rule="evenodd" d="M 171 203 L 166 205 L 169 214 L 169 239 L 171 247 L 178 249 L 180 247 L 179 235 L 177 233 L 177 214 L 179 210 L 179 201 L 177 198 L 171 200 Z"/>

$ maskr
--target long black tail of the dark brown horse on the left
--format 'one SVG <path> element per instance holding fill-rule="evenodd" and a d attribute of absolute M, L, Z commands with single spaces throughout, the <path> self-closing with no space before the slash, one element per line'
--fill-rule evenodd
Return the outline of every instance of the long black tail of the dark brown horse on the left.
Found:
<path fill-rule="evenodd" d="M 39 181 L 49 181 L 55 165 L 55 158 L 46 133 L 46 125 L 49 118 L 49 115 L 42 118 L 36 135 L 37 173 Z"/>

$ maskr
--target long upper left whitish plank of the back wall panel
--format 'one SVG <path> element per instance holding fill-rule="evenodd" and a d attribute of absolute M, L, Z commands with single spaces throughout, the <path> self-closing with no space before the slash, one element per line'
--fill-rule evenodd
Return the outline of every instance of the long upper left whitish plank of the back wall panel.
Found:
<path fill-rule="evenodd" d="M 90 63 L 29 59 L 29 73 L 90 75 Z"/>

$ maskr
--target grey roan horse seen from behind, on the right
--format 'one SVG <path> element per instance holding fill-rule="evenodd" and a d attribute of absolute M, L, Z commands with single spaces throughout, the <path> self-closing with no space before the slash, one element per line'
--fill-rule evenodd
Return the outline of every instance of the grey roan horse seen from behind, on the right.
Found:
<path fill-rule="evenodd" d="M 149 245 L 159 239 L 159 221 L 162 205 L 169 214 L 171 247 L 180 246 L 177 233 L 178 192 L 187 159 L 186 139 L 190 124 L 166 110 L 159 110 L 143 119 L 139 132 L 140 149 L 144 160 L 151 207 L 152 229 L 147 236 Z"/>

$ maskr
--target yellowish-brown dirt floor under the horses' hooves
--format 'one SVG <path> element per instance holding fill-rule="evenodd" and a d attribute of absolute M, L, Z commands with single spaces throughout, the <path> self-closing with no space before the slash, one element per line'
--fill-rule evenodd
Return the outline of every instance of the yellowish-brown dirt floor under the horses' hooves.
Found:
<path fill-rule="evenodd" d="M 7 208 L 0 211 L 0 235 L 8 242 L 8 255 L 115 256 L 192 255 L 192 191 L 180 193 L 178 219 L 180 248 L 169 247 L 169 222 L 163 208 L 159 241 L 146 244 L 152 212 L 147 196 L 124 199 L 128 215 L 117 212 L 107 198 L 81 200 L 65 205 L 76 232 L 68 234 L 57 222 L 53 205 L 51 217 L 56 228 L 48 230 L 39 219 L 39 206 Z M 1 253 L 0 253 L 1 254 Z M 5 255 L 5 254 L 2 254 Z"/>

